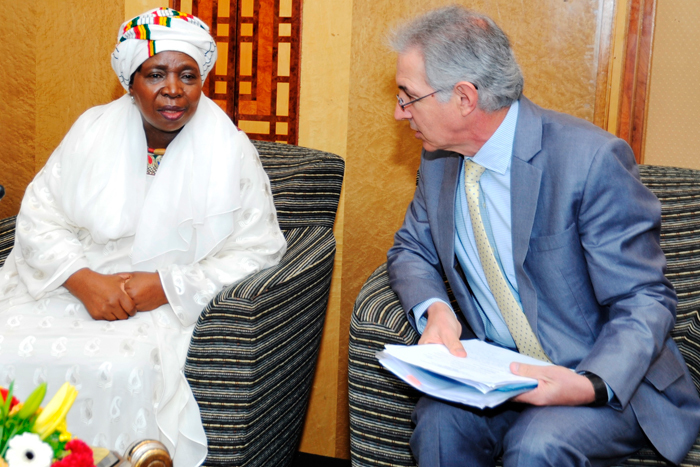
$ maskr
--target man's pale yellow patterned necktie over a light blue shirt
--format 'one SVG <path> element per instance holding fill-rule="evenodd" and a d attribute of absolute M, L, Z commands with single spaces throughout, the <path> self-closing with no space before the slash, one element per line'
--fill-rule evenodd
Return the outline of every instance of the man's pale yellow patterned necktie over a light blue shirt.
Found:
<path fill-rule="evenodd" d="M 548 362 L 549 358 L 542 350 L 542 346 L 537 340 L 535 333 L 532 332 L 525 313 L 523 313 L 520 304 L 513 296 L 510 287 L 508 287 L 506 278 L 503 277 L 503 272 L 501 272 L 501 268 L 498 266 L 496 257 L 493 254 L 491 243 L 489 243 L 489 239 L 486 236 L 479 208 L 479 179 L 486 169 L 468 158 L 464 159 L 464 164 L 464 184 L 467 191 L 469 217 L 472 219 L 472 228 L 474 229 L 476 247 L 479 251 L 479 259 L 481 260 L 481 266 L 484 269 L 491 293 L 496 299 L 496 304 L 520 353 Z"/>

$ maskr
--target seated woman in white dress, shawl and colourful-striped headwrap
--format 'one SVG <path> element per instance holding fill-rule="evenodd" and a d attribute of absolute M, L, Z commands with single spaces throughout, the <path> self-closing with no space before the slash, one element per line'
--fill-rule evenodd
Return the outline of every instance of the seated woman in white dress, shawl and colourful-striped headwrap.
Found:
<path fill-rule="evenodd" d="M 194 324 L 286 249 L 255 148 L 202 95 L 208 31 L 168 8 L 122 25 L 128 94 L 85 112 L 28 186 L 0 269 L 0 385 L 69 381 L 75 436 L 160 439 L 183 467 L 206 456 L 183 374 Z"/>

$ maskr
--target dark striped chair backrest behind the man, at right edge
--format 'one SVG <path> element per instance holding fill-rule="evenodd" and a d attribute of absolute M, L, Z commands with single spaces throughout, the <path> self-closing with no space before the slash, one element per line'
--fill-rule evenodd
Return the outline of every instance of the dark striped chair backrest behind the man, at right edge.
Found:
<path fill-rule="evenodd" d="M 641 165 L 639 173 L 661 201 L 666 277 L 678 295 L 672 335 L 700 391 L 700 170 Z"/>

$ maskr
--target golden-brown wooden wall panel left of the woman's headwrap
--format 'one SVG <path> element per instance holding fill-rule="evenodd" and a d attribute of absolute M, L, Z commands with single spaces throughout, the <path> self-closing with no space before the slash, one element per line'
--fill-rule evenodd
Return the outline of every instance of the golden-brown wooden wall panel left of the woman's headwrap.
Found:
<path fill-rule="evenodd" d="M 83 112 L 124 95 L 109 61 L 124 0 L 37 3 L 2 3 L 14 20 L 0 30 L 0 218 Z"/>

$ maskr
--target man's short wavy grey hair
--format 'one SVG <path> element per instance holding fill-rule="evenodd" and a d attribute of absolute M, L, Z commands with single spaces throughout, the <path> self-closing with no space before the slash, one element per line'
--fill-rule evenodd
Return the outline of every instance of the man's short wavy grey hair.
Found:
<path fill-rule="evenodd" d="M 460 6 L 430 11 L 400 25 L 389 39 L 399 54 L 417 48 L 423 55 L 428 84 L 451 91 L 460 81 L 478 88 L 478 106 L 494 112 L 518 100 L 523 74 L 510 41 L 488 16 Z M 447 93 L 436 95 L 441 102 Z"/>

